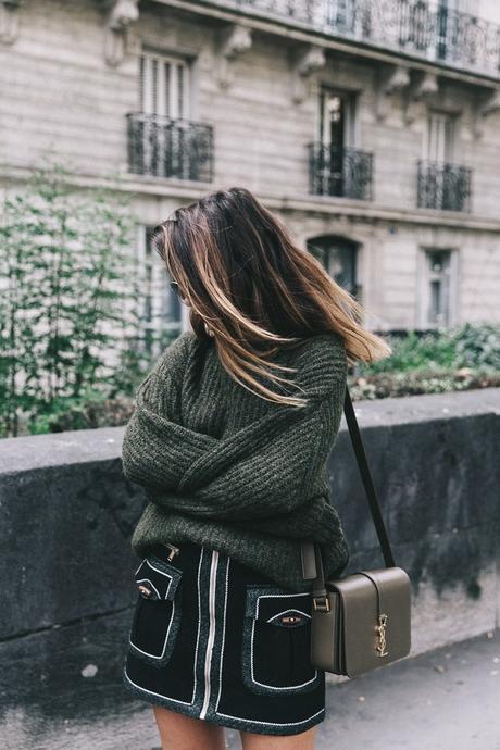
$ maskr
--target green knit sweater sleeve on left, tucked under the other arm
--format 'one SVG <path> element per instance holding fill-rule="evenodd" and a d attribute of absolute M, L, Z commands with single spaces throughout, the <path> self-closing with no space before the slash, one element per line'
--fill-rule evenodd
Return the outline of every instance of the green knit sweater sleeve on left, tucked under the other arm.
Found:
<path fill-rule="evenodd" d="M 123 473 L 145 487 L 175 490 L 195 461 L 217 440 L 179 423 L 179 398 L 190 333 L 163 352 L 136 392 L 136 409 L 125 428 Z"/>

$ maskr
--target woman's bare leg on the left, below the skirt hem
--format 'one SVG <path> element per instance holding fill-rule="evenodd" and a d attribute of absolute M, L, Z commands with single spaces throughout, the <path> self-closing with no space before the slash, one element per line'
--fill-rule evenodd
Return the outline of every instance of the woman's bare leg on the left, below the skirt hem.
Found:
<path fill-rule="evenodd" d="M 153 711 L 162 750 L 225 750 L 224 727 L 160 705 L 154 705 Z"/>

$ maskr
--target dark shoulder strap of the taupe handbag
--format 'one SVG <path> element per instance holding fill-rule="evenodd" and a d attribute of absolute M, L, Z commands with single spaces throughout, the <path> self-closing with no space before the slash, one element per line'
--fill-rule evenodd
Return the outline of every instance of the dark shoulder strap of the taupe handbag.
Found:
<path fill-rule="evenodd" d="M 364 446 L 361 439 L 358 420 L 355 417 L 354 408 L 352 405 L 351 395 L 349 392 L 349 388 L 347 385 L 346 397 L 343 400 L 343 413 L 346 414 L 349 435 L 351 437 L 351 442 L 354 449 L 358 466 L 361 474 L 361 479 L 363 482 L 363 486 L 368 500 L 370 511 L 372 513 L 373 523 L 375 525 L 375 530 L 377 533 L 378 542 L 380 545 L 382 553 L 384 555 L 384 562 L 386 567 L 393 567 L 396 564 L 395 558 L 392 554 L 392 550 L 390 548 L 389 538 L 387 536 L 387 530 L 380 512 L 380 505 L 378 503 L 377 493 L 375 490 L 375 485 L 373 484 L 372 474 L 370 471 L 368 462 L 366 460 L 366 453 L 364 452 Z M 314 547 L 315 545 L 311 541 L 301 542 L 302 575 L 305 580 L 310 580 L 311 578 L 316 578 L 316 580 L 318 580 L 320 577 L 323 578 L 321 554 L 318 555 L 320 550 L 315 550 Z"/>

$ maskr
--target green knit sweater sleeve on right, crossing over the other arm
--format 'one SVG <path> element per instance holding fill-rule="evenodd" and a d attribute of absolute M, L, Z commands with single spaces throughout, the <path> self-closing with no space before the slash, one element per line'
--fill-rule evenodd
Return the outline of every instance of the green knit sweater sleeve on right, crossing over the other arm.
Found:
<path fill-rule="evenodd" d="M 175 498 L 150 499 L 198 517 L 258 520 L 289 514 L 311 500 L 339 429 L 347 377 L 343 346 L 298 366 L 307 407 L 273 404 L 249 427 L 220 440 L 186 471 Z"/>

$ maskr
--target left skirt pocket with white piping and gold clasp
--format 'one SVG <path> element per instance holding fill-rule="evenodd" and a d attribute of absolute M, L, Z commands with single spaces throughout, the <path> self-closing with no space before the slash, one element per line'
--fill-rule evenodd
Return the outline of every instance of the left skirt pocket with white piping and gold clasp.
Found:
<path fill-rule="evenodd" d="M 140 659 L 164 666 L 172 657 L 180 625 L 183 572 L 153 554 L 135 573 L 138 600 L 132 623 L 129 647 Z"/>

